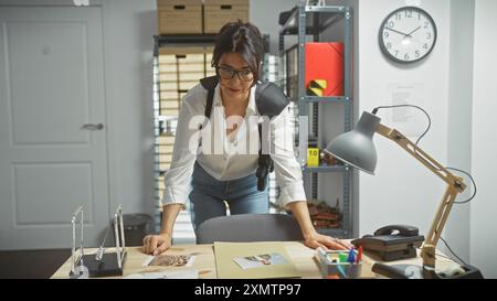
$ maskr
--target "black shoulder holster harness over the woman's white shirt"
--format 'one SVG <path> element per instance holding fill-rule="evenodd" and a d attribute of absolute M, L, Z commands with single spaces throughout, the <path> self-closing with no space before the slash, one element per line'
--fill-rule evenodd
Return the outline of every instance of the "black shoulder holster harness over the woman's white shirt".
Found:
<path fill-rule="evenodd" d="M 211 118 L 212 104 L 214 103 L 214 89 L 219 80 L 216 76 L 210 76 L 200 79 L 200 84 L 208 90 L 208 98 L 205 104 L 204 116 L 209 119 Z M 255 105 L 261 116 L 267 116 L 271 118 L 279 115 L 284 108 L 289 104 L 288 98 L 283 93 L 283 90 L 273 83 L 263 82 L 258 83 L 255 88 Z M 262 125 L 258 123 L 258 166 L 255 175 L 257 176 L 257 190 L 264 191 L 267 182 L 267 174 L 273 172 L 274 163 L 269 154 L 262 153 Z M 265 137 L 268 138 L 269 129 L 264 132 Z M 266 140 L 267 141 L 267 140 Z"/>

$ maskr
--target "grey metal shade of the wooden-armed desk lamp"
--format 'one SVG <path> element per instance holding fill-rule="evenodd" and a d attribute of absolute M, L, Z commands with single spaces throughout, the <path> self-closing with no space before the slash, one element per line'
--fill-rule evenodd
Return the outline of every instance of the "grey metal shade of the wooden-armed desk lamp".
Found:
<path fill-rule="evenodd" d="M 372 137 L 381 119 L 370 112 L 362 112 L 356 127 L 335 138 L 325 152 L 367 173 L 374 174 L 377 149 Z"/>

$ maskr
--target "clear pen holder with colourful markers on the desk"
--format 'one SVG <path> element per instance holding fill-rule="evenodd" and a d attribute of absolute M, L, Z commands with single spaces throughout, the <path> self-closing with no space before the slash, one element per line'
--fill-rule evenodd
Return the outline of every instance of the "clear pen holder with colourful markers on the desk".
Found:
<path fill-rule="evenodd" d="M 343 262 L 343 257 L 348 257 L 349 251 L 324 250 L 318 248 L 318 258 L 322 278 L 326 279 L 358 279 L 362 271 L 362 261 Z M 355 250 L 357 258 L 357 251 Z"/>

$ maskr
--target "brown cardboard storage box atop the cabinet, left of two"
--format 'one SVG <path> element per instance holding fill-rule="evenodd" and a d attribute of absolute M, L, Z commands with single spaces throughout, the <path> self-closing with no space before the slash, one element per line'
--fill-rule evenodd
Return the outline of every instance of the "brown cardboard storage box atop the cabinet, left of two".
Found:
<path fill-rule="evenodd" d="M 157 0 L 159 34 L 202 33 L 201 0 Z"/>

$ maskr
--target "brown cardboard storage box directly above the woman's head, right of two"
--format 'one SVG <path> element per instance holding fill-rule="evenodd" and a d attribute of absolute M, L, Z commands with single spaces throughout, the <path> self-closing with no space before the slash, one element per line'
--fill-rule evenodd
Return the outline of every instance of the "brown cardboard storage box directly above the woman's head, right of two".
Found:
<path fill-rule="evenodd" d="M 228 22 L 248 21 L 248 0 L 204 0 L 204 33 L 218 33 Z"/>

